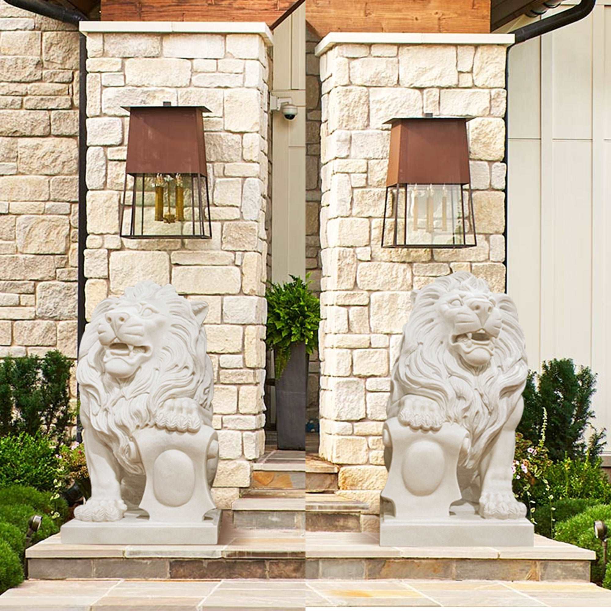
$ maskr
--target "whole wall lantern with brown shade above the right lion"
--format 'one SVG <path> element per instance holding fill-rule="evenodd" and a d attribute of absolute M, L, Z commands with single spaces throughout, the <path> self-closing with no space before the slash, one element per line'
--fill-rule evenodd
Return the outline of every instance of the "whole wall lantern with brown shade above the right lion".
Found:
<path fill-rule="evenodd" d="M 391 119 L 383 248 L 477 246 L 466 118 Z"/>

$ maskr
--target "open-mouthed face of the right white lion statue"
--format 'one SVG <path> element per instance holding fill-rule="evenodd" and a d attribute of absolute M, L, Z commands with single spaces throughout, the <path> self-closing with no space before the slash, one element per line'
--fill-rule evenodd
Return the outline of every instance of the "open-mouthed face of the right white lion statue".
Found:
<path fill-rule="evenodd" d="M 446 324 L 448 348 L 467 365 L 488 365 L 494 342 L 502 328 L 502 316 L 491 293 L 454 290 L 437 302 Z"/>

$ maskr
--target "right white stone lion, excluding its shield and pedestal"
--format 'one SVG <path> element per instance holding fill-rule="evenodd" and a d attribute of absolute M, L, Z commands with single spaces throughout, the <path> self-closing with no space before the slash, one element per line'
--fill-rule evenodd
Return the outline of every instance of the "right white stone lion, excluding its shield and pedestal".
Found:
<path fill-rule="evenodd" d="M 439 431 L 444 423 L 466 430 L 458 488 L 483 518 L 526 514 L 511 491 L 511 467 L 527 373 L 524 332 L 507 295 L 466 272 L 412 292 L 387 417 L 413 431 Z M 387 467 L 391 459 L 387 447 Z"/>

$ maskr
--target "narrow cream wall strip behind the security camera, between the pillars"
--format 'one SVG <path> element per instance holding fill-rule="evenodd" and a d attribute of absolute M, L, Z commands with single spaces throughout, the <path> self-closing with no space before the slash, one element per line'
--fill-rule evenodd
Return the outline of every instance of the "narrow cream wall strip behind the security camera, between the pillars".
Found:
<path fill-rule="evenodd" d="M 273 87 L 299 107 L 292 121 L 272 113 L 271 279 L 285 282 L 305 277 L 305 4 L 274 29 Z"/>

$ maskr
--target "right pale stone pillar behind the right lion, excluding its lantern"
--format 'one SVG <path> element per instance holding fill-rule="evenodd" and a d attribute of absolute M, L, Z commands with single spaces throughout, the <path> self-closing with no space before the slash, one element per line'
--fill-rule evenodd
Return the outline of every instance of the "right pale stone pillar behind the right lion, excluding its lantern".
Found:
<path fill-rule="evenodd" d="M 341 466 L 342 494 L 370 503 L 371 514 L 386 481 L 382 424 L 411 290 L 458 270 L 484 277 L 495 291 L 505 284 L 505 46 L 477 38 L 457 45 L 451 35 L 439 36 L 440 44 L 397 44 L 384 36 L 337 43 L 320 57 L 320 454 Z M 478 246 L 382 249 L 390 140 L 382 124 L 428 112 L 475 117 Z M 369 520 L 364 526 L 375 527 Z"/>

